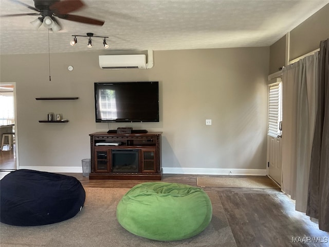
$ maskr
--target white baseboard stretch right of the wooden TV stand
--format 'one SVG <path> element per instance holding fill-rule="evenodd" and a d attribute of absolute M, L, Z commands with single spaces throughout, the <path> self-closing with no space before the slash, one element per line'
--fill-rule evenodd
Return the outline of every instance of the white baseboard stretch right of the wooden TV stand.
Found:
<path fill-rule="evenodd" d="M 229 169 L 229 168 L 177 168 L 162 167 L 167 174 L 200 174 L 200 175 L 251 175 L 265 176 L 266 169 Z"/>

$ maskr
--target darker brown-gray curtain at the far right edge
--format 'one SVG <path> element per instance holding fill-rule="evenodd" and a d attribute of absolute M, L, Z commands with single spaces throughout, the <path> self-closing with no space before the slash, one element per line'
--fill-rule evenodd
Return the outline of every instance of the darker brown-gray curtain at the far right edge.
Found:
<path fill-rule="evenodd" d="M 320 84 L 309 170 L 306 215 L 329 232 L 329 39 L 320 42 Z"/>

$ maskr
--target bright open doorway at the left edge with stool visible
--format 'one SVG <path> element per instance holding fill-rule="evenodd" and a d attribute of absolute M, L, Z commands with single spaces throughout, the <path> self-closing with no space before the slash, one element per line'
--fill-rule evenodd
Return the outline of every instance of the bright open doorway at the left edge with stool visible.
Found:
<path fill-rule="evenodd" d="M 0 171 L 19 169 L 16 119 L 16 84 L 15 82 L 0 82 L 0 144 L 3 134 L 14 133 L 12 147 L 4 145 L 0 151 Z M 11 137 L 5 137 L 4 144 L 8 143 L 8 138 Z"/>

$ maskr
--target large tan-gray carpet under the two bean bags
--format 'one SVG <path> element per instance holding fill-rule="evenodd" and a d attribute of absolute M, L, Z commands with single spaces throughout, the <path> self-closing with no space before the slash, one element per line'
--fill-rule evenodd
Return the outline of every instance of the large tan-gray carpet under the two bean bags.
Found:
<path fill-rule="evenodd" d="M 116 207 L 128 189 L 85 188 L 85 190 L 85 206 L 74 218 L 67 221 L 31 227 L 0 223 L 1 246 L 236 247 L 221 200 L 216 192 L 207 192 L 212 202 L 213 216 L 205 231 L 190 239 L 160 242 L 133 235 L 118 223 Z"/>

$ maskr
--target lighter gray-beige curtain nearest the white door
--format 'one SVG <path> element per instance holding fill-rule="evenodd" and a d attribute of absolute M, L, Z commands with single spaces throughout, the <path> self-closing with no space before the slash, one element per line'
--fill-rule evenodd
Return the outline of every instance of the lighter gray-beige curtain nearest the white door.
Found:
<path fill-rule="evenodd" d="M 282 69 L 282 184 L 296 200 L 296 210 L 306 212 L 312 152 L 319 52 Z"/>

